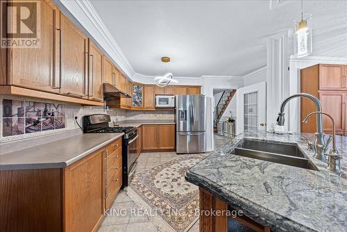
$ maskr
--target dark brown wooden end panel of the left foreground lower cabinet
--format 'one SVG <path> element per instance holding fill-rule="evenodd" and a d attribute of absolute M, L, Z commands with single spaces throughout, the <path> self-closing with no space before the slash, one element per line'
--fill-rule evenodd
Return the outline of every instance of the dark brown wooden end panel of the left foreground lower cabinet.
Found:
<path fill-rule="evenodd" d="M 62 231 L 61 169 L 0 171 L 0 231 Z"/>

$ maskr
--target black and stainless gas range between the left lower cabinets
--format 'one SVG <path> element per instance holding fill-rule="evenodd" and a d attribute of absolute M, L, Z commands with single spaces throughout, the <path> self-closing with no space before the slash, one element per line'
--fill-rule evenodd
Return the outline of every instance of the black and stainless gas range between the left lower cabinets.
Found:
<path fill-rule="evenodd" d="M 108 125 L 111 122 L 110 115 L 85 115 L 83 116 L 83 133 L 124 133 L 122 136 L 122 162 L 123 162 L 123 187 L 128 186 L 131 176 L 137 165 L 136 140 L 137 128 L 134 126 Z"/>

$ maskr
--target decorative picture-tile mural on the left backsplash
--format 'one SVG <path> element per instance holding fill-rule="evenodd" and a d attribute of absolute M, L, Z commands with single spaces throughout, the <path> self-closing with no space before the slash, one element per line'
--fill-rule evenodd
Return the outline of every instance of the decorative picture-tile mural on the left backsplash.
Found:
<path fill-rule="evenodd" d="M 3 137 L 65 128 L 65 105 L 3 99 Z"/>

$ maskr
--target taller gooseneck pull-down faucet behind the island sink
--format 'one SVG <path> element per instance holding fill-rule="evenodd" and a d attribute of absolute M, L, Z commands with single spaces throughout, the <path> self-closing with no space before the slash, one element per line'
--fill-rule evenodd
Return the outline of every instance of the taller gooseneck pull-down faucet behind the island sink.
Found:
<path fill-rule="evenodd" d="M 291 99 L 294 99 L 296 97 L 306 97 L 310 99 L 311 101 L 314 102 L 314 105 L 316 106 L 316 111 L 321 112 L 322 110 L 322 103 L 317 99 L 316 97 L 312 96 L 311 94 L 307 93 L 298 93 L 298 94 L 293 94 L 289 97 L 287 97 L 284 101 L 282 101 L 281 106 L 280 106 L 280 113 L 278 113 L 278 118 L 277 118 L 277 125 L 278 126 L 283 126 L 285 124 L 285 105 L 287 104 L 288 101 Z M 317 158 L 319 160 L 325 161 L 325 155 L 324 155 L 324 149 L 326 149 L 325 145 L 325 134 L 323 133 L 323 121 L 322 121 L 322 114 L 317 114 L 317 132 L 315 133 L 316 138 L 314 140 L 314 158 Z"/>

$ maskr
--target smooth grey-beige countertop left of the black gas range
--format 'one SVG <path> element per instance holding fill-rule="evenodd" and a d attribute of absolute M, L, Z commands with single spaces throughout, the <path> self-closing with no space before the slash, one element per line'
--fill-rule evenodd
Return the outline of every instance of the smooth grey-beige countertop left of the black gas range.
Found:
<path fill-rule="evenodd" d="M 91 154 L 124 133 L 85 133 L 0 155 L 0 170 L 62 168 Z"/>

